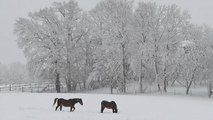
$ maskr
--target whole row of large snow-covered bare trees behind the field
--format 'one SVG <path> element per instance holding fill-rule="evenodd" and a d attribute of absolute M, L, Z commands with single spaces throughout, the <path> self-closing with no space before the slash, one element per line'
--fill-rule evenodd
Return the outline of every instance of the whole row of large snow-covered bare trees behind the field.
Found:
<path fill-rule="evenodd" d="M 89 12 L 74 0 L 19 18 L 14 32 L 35 80 L 52 81 L 56 91 L 110 87 L 139 92 L 156 86 L 186 88 L 212 79 L 213 29 L 190 22 L 177 5 L 103 0 Z"/>

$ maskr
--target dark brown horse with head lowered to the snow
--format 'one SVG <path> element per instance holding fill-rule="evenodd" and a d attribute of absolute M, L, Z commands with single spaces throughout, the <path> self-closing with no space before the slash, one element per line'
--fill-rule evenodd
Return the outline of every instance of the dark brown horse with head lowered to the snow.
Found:
<path fill-rule="evenodd" d="M 101 113 L 103 113 L 105 108 L 112 109 L 113 113 L 117 113 L 118 112 L 117 105 L 116 105 L 115 101 L 108 102 L 106 100 L 103 100 L 101 102 Z"/>

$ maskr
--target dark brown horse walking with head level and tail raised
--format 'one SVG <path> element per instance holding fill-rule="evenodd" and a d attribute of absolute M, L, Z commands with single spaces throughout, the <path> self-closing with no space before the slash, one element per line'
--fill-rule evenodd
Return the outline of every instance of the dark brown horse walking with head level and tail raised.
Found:
<path fill-rule="evenodd" d="M 57 102 L 57 106 L 55 110 L 57 110 L 58 107 L 60 107 L 60 111 L 62 110 L 62 106 L 70 107 L 70 112 L 72 112 L 75 110 L 74 106 L 76 103 L 80 103 L 81 105 L 83 105 L 81 98 L 74 98 L 74 99 L 68 99 L 68 100 L 65 100 L 63 98 L 55 98 L 53 106 L 55 105 L 56 102 Z"/>

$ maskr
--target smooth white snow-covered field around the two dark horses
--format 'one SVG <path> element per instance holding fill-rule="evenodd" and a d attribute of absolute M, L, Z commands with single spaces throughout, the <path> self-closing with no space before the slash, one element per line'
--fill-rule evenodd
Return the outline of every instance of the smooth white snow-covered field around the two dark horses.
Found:
<path fill-rule="evenodd" d="M 82 98 L 55 111 L 55 97 Z M 102 100 L 114 100 L 119 113 L 100 113 Z M 213 120 L 213 99 L 190 96 L 0 93 L 0 120 Z"/>

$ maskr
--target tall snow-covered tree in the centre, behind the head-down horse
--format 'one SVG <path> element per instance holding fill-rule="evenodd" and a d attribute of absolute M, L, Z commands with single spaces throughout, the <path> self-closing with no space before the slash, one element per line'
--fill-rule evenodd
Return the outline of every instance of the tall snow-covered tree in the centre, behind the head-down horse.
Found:
<path fill-rule="evenodd" d="M 99 37 L 102 40 L 102 49 L 105 54 L 109 54 L 110 62 L 106 64 L 116 64 L 120 71 L 118 74 L 122 78 L 122 92 L 126 92 L 127 66 L 128 66 L 128 46 L 132 32 L 132 2 L 128 0 L 105 0 L 98 3 L 92 10 L 92 17 L 100 30 Z M 108 61 L 108 62 L 109 62 Z M 114 70 L 115 70 L 114 69 Z M 112 69 L 111 69 L 112 70 Z"/>

